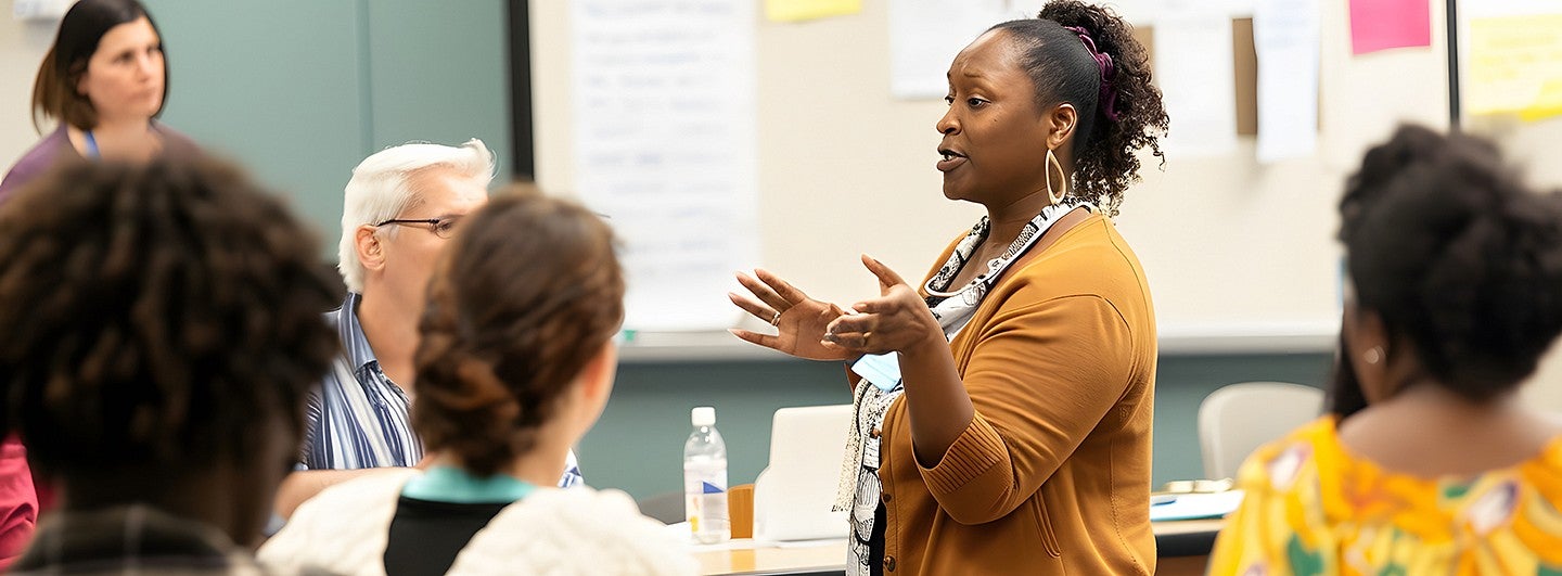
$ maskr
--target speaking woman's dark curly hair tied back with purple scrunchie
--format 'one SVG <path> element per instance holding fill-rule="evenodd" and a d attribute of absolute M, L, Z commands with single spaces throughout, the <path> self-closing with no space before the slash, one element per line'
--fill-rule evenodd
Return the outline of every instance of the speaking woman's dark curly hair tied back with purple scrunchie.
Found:
<path fill-rule="evenodd" d="M 1111 56 L 1112 73 L 1101 66 L 1078 33 L 1087 33 L 1100 53 Z M 1139 181 L 1140 148 L 1148 147 L 1161 164 L 1161 136 L 1167 111 L 1161 89 L 1150 81 L 1150 55 L 1134 39 L 1134 27 L 1114 11 L 1079 0 L 1051 0 L 1036 19 L 1003 22 L 1003 30 L 1025 50 L 1025 69 L 1036 84 L 1040 108 L 1072 103 L 1079 112 L 1075 128 L 1075 173 L 1070 195 L 1092 201 L 1117 215 L 1123 192 Z M 1101 86 L 1109 83 L 1101 106 Z"/>

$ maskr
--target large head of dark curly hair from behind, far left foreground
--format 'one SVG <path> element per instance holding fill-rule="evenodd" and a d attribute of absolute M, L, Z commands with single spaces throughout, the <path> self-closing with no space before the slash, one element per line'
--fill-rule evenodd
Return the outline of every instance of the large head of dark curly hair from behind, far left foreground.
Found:
<path fill-rule="evenodd" d="M 0 431 L 66 510 L 253 543 L 337 339 L 314 234 L 236 169 L 67 164 L 0 208 Z"/>

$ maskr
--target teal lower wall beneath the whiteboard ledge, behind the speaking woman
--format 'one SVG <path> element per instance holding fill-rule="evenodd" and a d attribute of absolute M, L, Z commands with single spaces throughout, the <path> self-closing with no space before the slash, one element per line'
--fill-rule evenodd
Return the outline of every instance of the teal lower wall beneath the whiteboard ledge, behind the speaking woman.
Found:
<path fill-rule="evenodd" d="M 1207 393 L 1245 381 L 1321 386 L 1331 361 L 1331 354 L 1162 356 L 1154 482 L 1203 476 L 1195 417 Z M 581 470 L 587 484 L 636 498 L 679 490 L 689 409 L 709 404 L 726 439 L 729 482 L 753 482 L 770 456 L 770 415 L 776 409 L 850 401 L 834 362 L 625 364 L 608 411 L 581 442 Z"/>

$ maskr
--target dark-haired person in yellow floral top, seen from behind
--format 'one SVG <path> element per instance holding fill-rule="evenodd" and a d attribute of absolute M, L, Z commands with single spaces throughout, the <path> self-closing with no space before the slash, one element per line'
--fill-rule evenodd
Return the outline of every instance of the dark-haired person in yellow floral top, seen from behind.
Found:
<path fill-rule="evenodd" d="M 1243 464 L 1211 574 L 1562 574 L 1562 425 L 1517 395 L 1562 332 L 1562 200 L 1406 126 L 1340 220 L 1332 414 Z"/>

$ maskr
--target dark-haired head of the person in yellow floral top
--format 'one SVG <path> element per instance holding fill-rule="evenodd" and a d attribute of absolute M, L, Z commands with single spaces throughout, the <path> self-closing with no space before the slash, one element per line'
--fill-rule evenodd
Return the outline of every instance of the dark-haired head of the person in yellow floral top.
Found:
<path fill-rule="evenodd" d="M 1492 401 L 1562 332 L 1557 197 L 1526 187 L 1490 142 L 1400 128 L 1346 183 L 1340 220 L 1342 356 L 1362 400 L 1440 386 Z"/>

